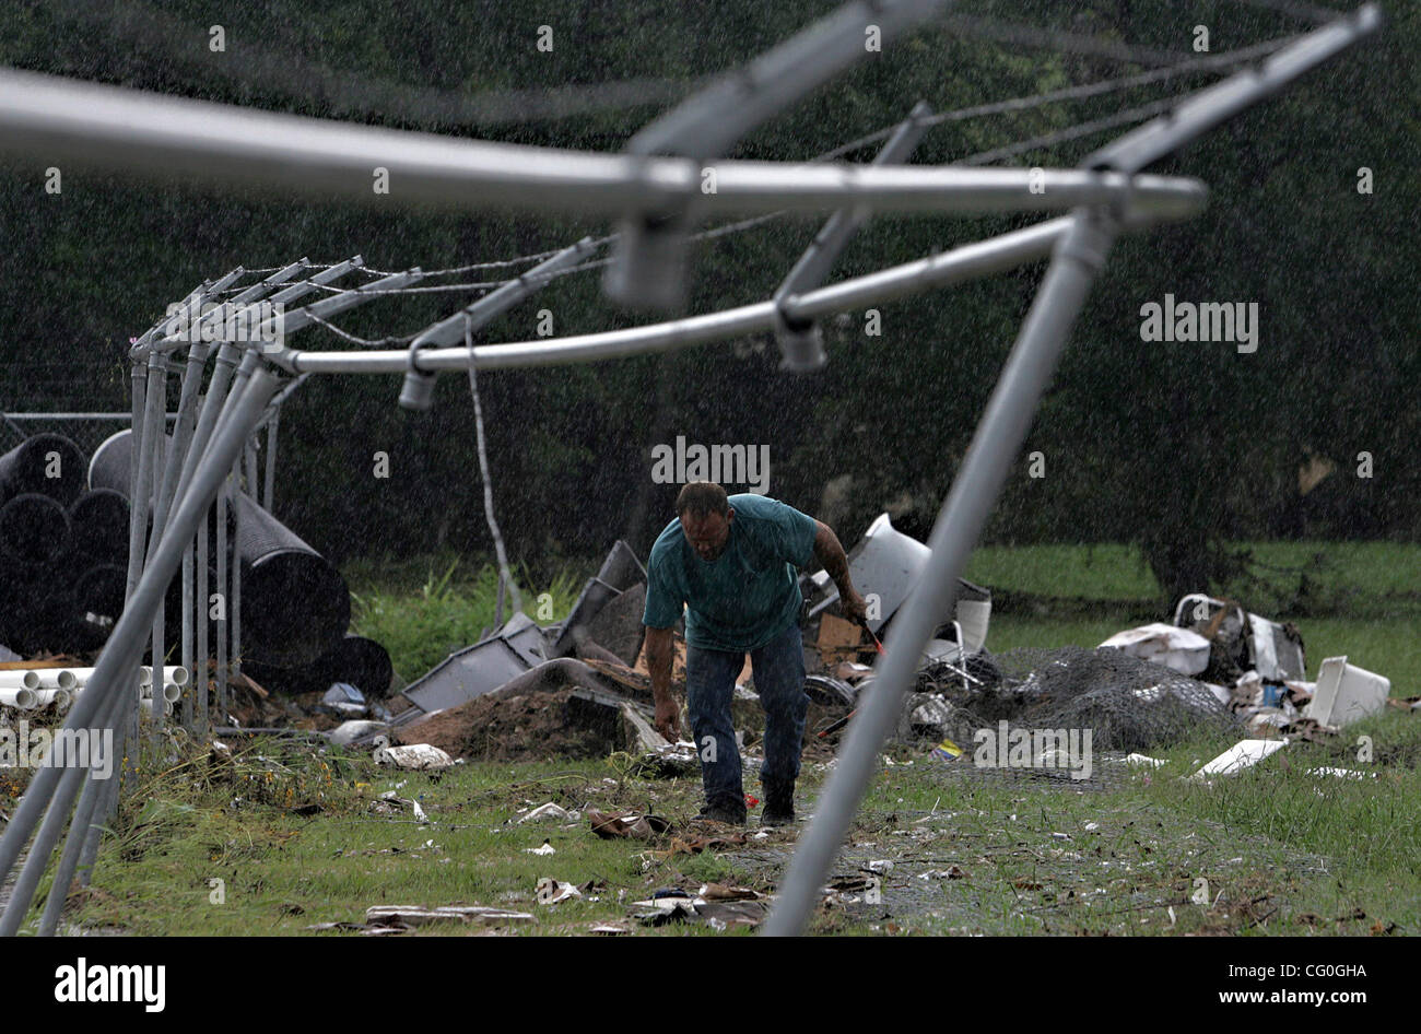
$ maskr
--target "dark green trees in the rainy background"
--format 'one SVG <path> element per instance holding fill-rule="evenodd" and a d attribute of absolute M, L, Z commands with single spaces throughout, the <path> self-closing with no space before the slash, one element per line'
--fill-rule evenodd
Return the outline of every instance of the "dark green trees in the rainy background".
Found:
<path fill-rule="evenodd" d="M 692 80 L 742 64 L 834 3 L 463 3 L 350 0 L 223 4 L 80 0 L 0 7 L 0 64 L 142 89 L 520 143 L 617 151 L 668 107 L 659 101 L 524 124 L 414 116 L 379 97 L 435 88 L 477 94 L 627 78 Z M 1300 31 L 1238 1 L 1020 0 L 958 10 L 1189 57 L 1192 27 L 1214 53 Z M 1025 452 L 1047 476 L 1007 484 L 993 543 L 1131 541 L 1165 587 L 1228 575 L 1229 540 L 1415 540 L 1421 382 L 1417 332 L 1418 67 L 1421 16 L 1390 24 L 1297 87 L 1211 134 L 1157 170 L 1211 186 L 1189 223 L 1123 240 L 1073 335 Z M 227 53 L 207 48 L 207 26 Z M 554 28 L 553 53 L 534 47 Z M 260 58 L 260 60 L 257 60 Z M 323 85 L 323 70 L 361 91 Z M 914 101 L 936 109 L 1020 97 L 1138 70 L 1118 60 L 989 43 L 931 26 L 816 91 L 750 134 L 735 158 L 799 159 L 892 124 Z M 1195 78 L 1192 85 L 1206 80 Z M 1182 89 L 1182 81 L 1169 85 Z M 381 92 L 384 91 L 384 92 Z M 1160 95 L 1134 89 L 932 129 L 914 160 L 939 163 L 1069 126 Z M 369 98 L 375 98 L 371 101 Z M 399 114 L 389 114 L 398 109 Z M 1071 165 L 1106 136 L 1015 159 Z M 854 158 L 867 160 L 872 151 Z M 320 203 L 192 183 L 64 170 L 43 190 L 43 156 L 0 166 L 0 406 L 126 409 L 128 338 L 168 301 L 236 264 L 354 253 L 374 268 L 504 258 L 603 234 L 605 220 L 470 207 L 468 216 L 396 205 Z M 1357 193 L 1358 166 L 1376 193 Z M 398 185 L 396 185 L 398 189 Z M 882 217 L 836 278 L 909 261 L 1027 217 Z M 818 222 L 782 219 L 698 249 L 691 311 L 766 297 Z M 772 493 L 853 540 L 881 510 L 925 535 L 1030 304 L 1042 266 L 882 307 L 884 335 L 861 314 L 827 325 L 831 362 L 811 378 L 776 371 L 769 339 L 480 381 L 504 533 L 534 577 L 625 535 L 649 547 L 674 486 L 649 483 L 649 449 L 691 442 L 769 443 Z M 1145 344 L 1140 307 L 1179 300 L 1258 301 L 1260 345 Z M 472 295 L 377 303 L 341 324 L 365 337 L 408 334 Z M 557 332 L 648 320 L 611 307 L 597 274 L 560 280 L 487 330 L 531 337 L 536 308 Z M 301 347 L 344 347 L 307 331 Z M 281 420 L 279 516 L 337 560 L 480 551 L 487 533 L 468 382 L 443 378 L 432 413 L 395 406 L 396 378 L 313 379 Z M 371 476 L 375 450 L 388 481 Z M 1370 452 L 1376 476 L 1356 477 Z M 1309 456 L 1337 472 L 1300 496 Z M 826 486 L 847 491 L 826 494 Z"/>

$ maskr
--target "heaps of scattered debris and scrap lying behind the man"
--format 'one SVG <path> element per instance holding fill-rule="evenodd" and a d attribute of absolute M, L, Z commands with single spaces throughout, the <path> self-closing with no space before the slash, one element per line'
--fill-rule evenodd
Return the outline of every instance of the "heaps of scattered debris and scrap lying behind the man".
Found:
<path fill-rule="evenodd" d="M 836 614 L 837 589 L 823 571 L 800 579 L 810 697 L 804 749 L 811 758 L 833 756 L 872 685 L 881 639 L 891 643 L 894 618 L 928 557 L 928 547 L 897 531 L 887 514 L 870 526 L 848 553 L 855 587 L 875 601 L 864 625 Z M 337 743 L 368 746 L 388 736 L 402 749 L 490 761 L 622 751 L 631 756 L 628 771 L 638 776 L 693 777 L 699 770 L 693 744 L 666 743 L 651 724 L 651 679 L 641 652 L 645 589 L 644 567 L 618 541 L 564 622 L 543 626 L 513 614 L 391 697 L 388 712 L 340 685 L 318 700 L 297 702 L 320 713 L 317 724 L 352 719 L 331 731 Z M 1385 679 L 1346 658 L 1329 658 L 1317 685 L 1306 682 L 1296 626 L 1204 594 L 1181 599 L 1172 622 L 1125 629 L 1094 649 L 990 653 L 985 648 L 990 612 L 988 589 L 959 584 L 953 608 L 939 615 L 919 659 L 897 729 L 899 741 L 926 744 L 934 757 L 951 761 L 966 756 L 983 730 L 1030 743 L 1088 730 L 1086 750 L 1151 761 L 1145 751 L 1201 730 L 1255 740 L 1330 736 L 1384 707 L 1390 695 Z M 674 643 L 674 685 L 684 685 L 679 631 Z M 753 767 L 760 712 L 749 659 L 732 709 L 742 757 Z M 367 717 L 381 720 L 361 720 Z M 998 750 L 999 757 L 1009 753 Z M 1250 749 L 1239 753 L 1245 760 L 1262 756 Z M 1221 758 L 1218 771 L 1238 770 L 1235 760 Z M 1042 758 L 1029 761 L 1036 766 Z"/>

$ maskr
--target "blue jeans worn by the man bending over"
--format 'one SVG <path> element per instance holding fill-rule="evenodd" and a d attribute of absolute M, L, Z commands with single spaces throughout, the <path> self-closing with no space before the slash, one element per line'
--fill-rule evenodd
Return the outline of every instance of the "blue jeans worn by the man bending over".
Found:
<path fill-rule="evenodd" d="M 745 653 L 686 648 L 686 712 L 701 756 L 701 781 L 706 804 L 742 807 L 740 751 L 735 743 L 730 699 Z M 756 651 L 750 651 L 755 690 L 764 709 L 764 766 L 760 781 L 793 783 L 799 777 L 804 743 L 804 641 L 799 625 L 789 625 Z"/>

